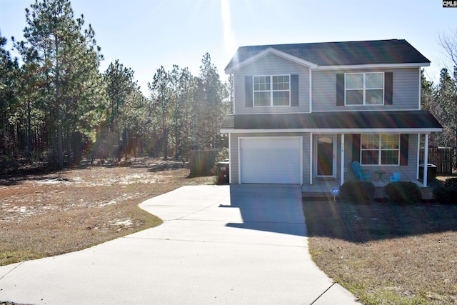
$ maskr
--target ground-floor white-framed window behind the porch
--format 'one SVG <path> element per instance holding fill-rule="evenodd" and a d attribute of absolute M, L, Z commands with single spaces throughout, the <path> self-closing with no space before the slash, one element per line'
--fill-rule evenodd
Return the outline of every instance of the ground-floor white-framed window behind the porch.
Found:
<path fill-rule="evenodd" d="M 362 134 L 361 164 L 399 165 L 399 134 Z"/>

